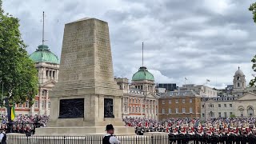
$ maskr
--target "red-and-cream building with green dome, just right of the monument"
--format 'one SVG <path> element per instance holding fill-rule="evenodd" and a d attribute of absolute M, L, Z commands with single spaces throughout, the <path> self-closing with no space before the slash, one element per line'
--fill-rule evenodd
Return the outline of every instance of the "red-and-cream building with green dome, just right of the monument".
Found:
<path fill-rule="evenodd" d="M 123 118 L 158 119 L 158 96 L 155 94 L 154 76 L 142 66 L 133 75 L 131 83 L 127 78 L 115 78 L 123 90 Z"/>

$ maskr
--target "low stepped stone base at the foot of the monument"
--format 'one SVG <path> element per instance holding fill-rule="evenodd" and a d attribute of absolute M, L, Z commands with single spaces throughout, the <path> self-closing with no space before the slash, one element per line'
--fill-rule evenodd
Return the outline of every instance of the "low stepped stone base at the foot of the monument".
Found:
<path fill-rule="evenodd" d="M 37 128 L 36 135 L 58 135 L 58 136 L 85 136 L 89 134 L 106 134 L 106 126 L 72 126 L 72 127 L 43 127 Z M 114 126 L 116 135 L 134 135 L 134 127 Z"/>

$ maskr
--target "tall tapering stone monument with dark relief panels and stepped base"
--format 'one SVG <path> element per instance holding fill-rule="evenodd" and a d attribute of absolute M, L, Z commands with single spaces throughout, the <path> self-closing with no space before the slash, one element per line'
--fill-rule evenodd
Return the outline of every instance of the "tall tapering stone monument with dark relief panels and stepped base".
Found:
<path fill-rule="evenodd" d="M 117 134 L 134 134 L 122 122 L 107 22 L 83 18 L 65 25 L 58 82 L 49 95 L 50 122 L 39 135 L 103 134 L 109 123 Z"/>

